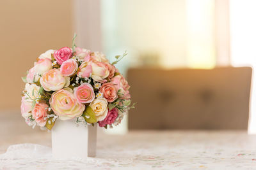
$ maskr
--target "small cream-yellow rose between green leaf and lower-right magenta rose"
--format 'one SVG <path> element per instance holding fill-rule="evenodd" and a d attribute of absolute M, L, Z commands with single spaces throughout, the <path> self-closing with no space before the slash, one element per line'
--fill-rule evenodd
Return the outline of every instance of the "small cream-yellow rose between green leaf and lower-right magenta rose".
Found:
<path fill-rule="evenodd" d="M 104 120 L 108 115 L 108 101 L 103 97 L 94 99 L 90 107 L 94 111 L 97 121 Z"/>

